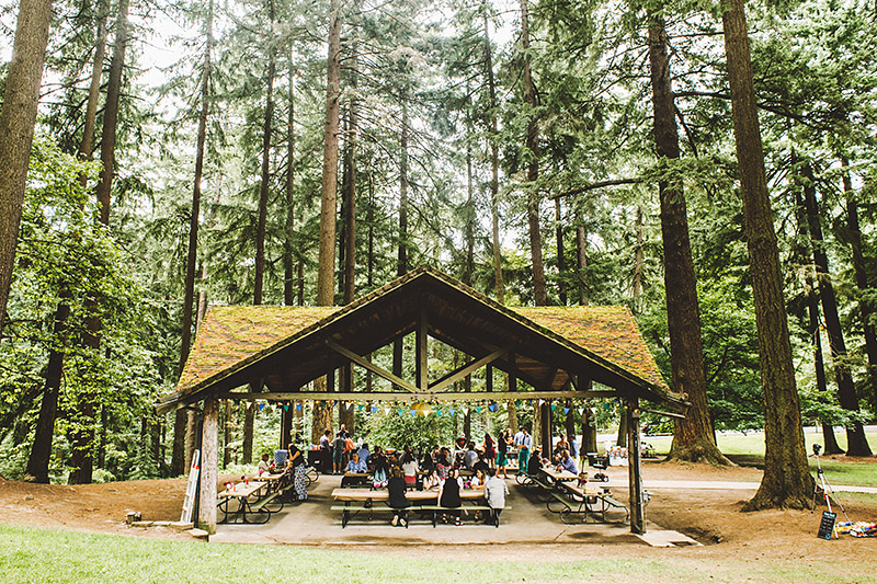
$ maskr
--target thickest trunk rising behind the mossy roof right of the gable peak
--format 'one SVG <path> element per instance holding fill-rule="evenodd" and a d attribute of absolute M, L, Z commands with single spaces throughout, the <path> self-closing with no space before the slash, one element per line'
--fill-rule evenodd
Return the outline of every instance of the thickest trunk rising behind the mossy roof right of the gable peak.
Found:
<path fill-rule="evenodd" d="M 524 101 L 529 110 L 527 122 L 527 229 L 529 231 L 529 257 L 533 264 L 533 302 L 548 304 L 545 287 L 545 266 L 542 259 L 542 231 L 539 230 L 539 198 L 535 183 L 539 179 L 539 126 L 536 121 L 536 88 L 529 68 L 529 15 L 527 0 L 521 0 L 521 53 L 523 54 Z"/>

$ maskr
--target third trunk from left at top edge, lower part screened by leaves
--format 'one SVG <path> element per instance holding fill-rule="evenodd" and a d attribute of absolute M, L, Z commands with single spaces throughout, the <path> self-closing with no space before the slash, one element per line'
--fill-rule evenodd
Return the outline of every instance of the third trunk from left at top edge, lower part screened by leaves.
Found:
<path fill-rule="evenodd" d="M 103 112 L 103 131 L 101 134 L 101 170 L 96 195 L 100 207 L 99 220 L 102 225 L 110 225 L 110 197 L 113 187 L 113 173 L 116 148 L 116 127 L 118 125 L 118 102 L 122 94 L 122 73 L 125 67 L 125 49 L 128 44 L 128 0 L 119 0 L 118 16 L 116 18 L 115 46 L 113 58 L 110 62 L 110 78 L 106 84 L 106 103 Z M 87 300 L 87 310 L 94 310 L 98 299 Z M 84 345 L 98 351 L 101 344 L 101 321 L 96 317 L 88 317 L 88 331 L 84 334 Z M 91 374 L 89 374 L 91 375 Z M 72 454 L 70 456 L 70 484 L 87 484 L 91 482 L 94 463 L 94 404 L 95 397 L 87 392 L 78 411 L 83 424 L 73 433 Z"/>

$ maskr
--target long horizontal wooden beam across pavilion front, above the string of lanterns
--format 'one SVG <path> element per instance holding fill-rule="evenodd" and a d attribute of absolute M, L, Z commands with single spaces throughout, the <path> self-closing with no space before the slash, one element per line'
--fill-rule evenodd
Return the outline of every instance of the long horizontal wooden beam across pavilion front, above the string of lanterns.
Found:
<path fill-rule="evenodd" d="M 611 394 L 608 394 L 611 393 Z M 614 398 L 614 392 L 606 391 L 353 391 L 350 393 L 328 392 L 328 391 L 266 391 L 264 393 L 247 393 L 228 391 L 217 394 L 223 400 L 264 400 L 264 401 L 482 401 L 482 400 L 561 400 L 578 398 Z"/>

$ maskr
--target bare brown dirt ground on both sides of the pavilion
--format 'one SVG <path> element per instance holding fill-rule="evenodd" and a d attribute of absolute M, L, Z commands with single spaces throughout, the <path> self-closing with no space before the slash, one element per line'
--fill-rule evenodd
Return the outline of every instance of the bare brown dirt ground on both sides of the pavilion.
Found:
<path fill-rule="evenodd" d="M 877 472 L 877 457 L 867 462 Z M 648 480 L 691 481 L 750 481 L 759 482 L 761 471 L 753 468 L 714 468 L 704 465 L 675 462 L 647 462 L 643 476 Z M 220 477 L 220 481 L 226 480 Z M 178 520 L 185 494 L 185 480 L 148 480 L 79 486 L 23 483 L 0 478 L 0 523 L 64 528 L 79 531 L 136 535 L 162 539 L 189 540 L 191 537 L 170 528 L 132 529 L 125 525 L 129 511 L 139 511 L 144 519 Z M 809 511 L 766 511 L 741 513 L 745 499 L 753 493 L 742 490 L 720 489 L 664 489 L 654 492 L 648 509 L 650 522 L 665 529 L 674 529 L 697 539 L 703 548 L 687 548 L 701 559 L 721 561 L 734 559 L 753 561 L 765 558 L 794 560 L 823 557 L 828 549 L 836 561 L 867 561 L 877 554 L 877 539 L 856 539 L 842 536 L 827 542 L 815 537 L 822 507 Z M 840 493 L 841 502 L 852 520 L 877 522 L 877 497 L 855 497 Z M 843 519 L 842 515 L 839 520 Z M 534 542 L 537 543 L 537 542 Z M 589 549 L 588 543 L 574 547 L 544 542 L 546 549 L 566 548 L 562 557 L 596 557 L 605 550 Z M 830 546 L 830 548 L 829 548 Z M 529 547 L 532 550 L 532 547 Z M 410 547 L 376 548 L 380 553 L 412 554 Z M 447 550 L 460 558 L 459 550 Z M 508 550 L 503 557 L 516 556 Z M 643 545 L 630 545 L 624 554 L 649 557 L 657 550 Z M 664 550 L 667 551 L 667 550 Z M 435 549 L 413 551 L 436 556 Z M 441 553 L 441 550 L 438 550 Z M 526 553 L 526 556 L 525 556 Z M 618 553 L 615 548 L 614 553 Z M 522 548 L 521 559 L 531 560 L 531 552 Z M 540 554 L 542 556 L 542 554 Z M 544 557 L 555 557 L 553 553 Z M 555 557 L 555 559 L 557 559 Z"/>

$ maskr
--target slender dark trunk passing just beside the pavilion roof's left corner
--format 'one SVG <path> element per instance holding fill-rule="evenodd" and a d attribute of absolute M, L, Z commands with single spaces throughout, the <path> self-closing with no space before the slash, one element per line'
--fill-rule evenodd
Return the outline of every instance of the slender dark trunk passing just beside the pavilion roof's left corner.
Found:
<path fill-rule="evenodd" d="M 207 19 L 204 24 L 204 70 L 201 75 L 201 113 L 198 115 L 198 134 L 195 145 L 195 178 L 192 185 L 192 211 L 189 217 L 189 253 L 185 264 L 185 287 L 183 293 L 183 330 L 180 341 L 180 373 L 182 374 L 189 351 L 192 346 L 192 313 L 195 304 L 195 268 L 197 266 L 198 227 L 201 224 L 201 180 L 204 175 L 204 142 L 207 139 L 207 114 L 209 113 L 210 92 L 210 49 L 213 47 L 213 0 L 207 4 Z M 186 471 L 185 428 L 187 413 L 176 410 L 173 425 L 173 453 L 171 455 L 171 474 L 176 477 Z"/>

